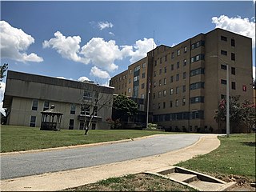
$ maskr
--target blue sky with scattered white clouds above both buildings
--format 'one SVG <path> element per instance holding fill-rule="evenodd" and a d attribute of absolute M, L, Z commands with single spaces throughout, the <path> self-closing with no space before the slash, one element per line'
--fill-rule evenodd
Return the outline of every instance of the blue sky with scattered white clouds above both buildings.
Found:
<path fill-rule="evenodd" d="M 254 17 L 255 1 L 2 1 L 1 64 L 106 85 L 153 46 L 174 46 L 215 27 L 254 38 L 255 52 Z"/>

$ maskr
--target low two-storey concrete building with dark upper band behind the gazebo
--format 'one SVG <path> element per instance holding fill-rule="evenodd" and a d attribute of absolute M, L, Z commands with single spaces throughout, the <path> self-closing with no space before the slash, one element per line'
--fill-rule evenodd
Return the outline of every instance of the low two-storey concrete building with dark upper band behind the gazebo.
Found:
<path fill-rule="evenodd" d="M 110 129 L 113 87 L 21 72 L 7 72 L 3 107 L 7 125 L 41 126 L 44 110 L 51 105 L 61 112 L 61 129 L 83 130 L 94 111 L 90 129 Z M 87 121 L 88 122 L 88 121 Z"/>

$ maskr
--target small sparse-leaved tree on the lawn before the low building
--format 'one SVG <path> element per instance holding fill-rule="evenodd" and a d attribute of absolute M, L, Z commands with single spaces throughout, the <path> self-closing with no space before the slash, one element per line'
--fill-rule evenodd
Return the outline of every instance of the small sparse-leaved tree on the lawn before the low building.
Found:
<path fill-rule="evenodd" d="M 88 133 L 90 125 L 95 116 L 98 115 L 98 111 L 102 109 L 102 107 L 110 105 L 109 103 L 112 101 L 112 95 L 104 95 L 100 92 L 101 86 L 96 87 L 94 90 L 85 90 L 81 99 L 81 115 L 84 116 L 84 126 L 85 126 L 85 134 Z M 88 117 L 89 119 L 87 119 Z"/>

